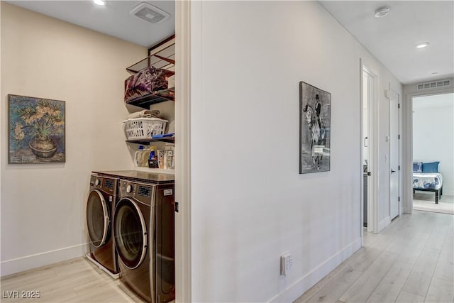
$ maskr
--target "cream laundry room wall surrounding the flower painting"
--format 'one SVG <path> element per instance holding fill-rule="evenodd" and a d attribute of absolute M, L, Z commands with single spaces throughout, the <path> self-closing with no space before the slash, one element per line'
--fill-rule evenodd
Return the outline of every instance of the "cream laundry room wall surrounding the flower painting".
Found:
<path fill-rule="evenodd" d="M 92 170 L 129 169 L 125 68 L 146 48 L 1 2 L 1 275 L 83 255 Z M 7 94 L 66 101 L 66 162 L 9 165 Z"/>

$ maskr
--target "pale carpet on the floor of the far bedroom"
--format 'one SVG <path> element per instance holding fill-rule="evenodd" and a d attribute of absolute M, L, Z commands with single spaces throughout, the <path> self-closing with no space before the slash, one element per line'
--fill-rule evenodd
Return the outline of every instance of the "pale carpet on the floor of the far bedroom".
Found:
<path fill-rule="evenodd" d="M 443 194 L 438 204 L 435 204 L 435 193 L 416 192 L 413 195 L 413 209 L 419 211 L 432 211 L 442 214 L 454 214 L 454 196 Z"/>

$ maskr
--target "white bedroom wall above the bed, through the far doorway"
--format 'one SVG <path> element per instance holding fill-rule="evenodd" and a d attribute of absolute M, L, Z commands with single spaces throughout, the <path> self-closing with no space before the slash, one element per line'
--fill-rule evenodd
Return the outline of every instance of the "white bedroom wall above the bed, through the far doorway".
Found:
<path fill-rule="evenodd" d="M 414 162 L 440 161 L 443 194 L 454 194 L 454 94 L 413 98 Z"/>

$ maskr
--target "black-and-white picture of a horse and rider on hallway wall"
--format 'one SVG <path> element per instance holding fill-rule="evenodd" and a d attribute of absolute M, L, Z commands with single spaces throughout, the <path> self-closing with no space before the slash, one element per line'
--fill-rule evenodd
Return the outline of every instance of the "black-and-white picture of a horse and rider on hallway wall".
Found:
<path fill-rule="evenodd" d="M 331 156 L 331 94 L 305 82 L 299 85 L 299 173 L 327 172 Z"/>

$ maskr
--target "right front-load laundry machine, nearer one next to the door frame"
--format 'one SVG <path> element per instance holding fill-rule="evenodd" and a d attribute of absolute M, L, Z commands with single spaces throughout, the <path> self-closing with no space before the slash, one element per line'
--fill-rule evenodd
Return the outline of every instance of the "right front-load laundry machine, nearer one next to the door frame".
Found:
<path fill-rule="evenodd" d="M 173 182 L 121 179 L 118 194 L 114 234 L 121 282 L 148 302 L 175 299 Z"/>

